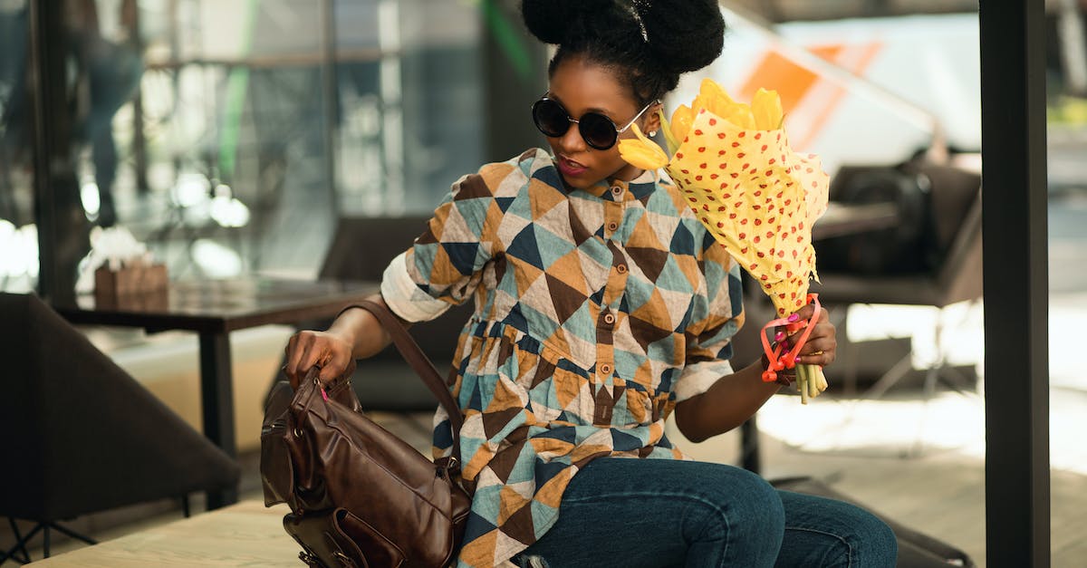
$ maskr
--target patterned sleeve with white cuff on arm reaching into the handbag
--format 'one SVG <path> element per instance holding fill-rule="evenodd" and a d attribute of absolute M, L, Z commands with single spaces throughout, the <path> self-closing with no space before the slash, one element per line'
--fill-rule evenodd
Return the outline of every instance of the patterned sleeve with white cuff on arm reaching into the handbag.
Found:
<path fill-rule="evenodd" d="M 459 180 L 426 231 L 386 268 L 385 302 L 404 320 L 425 321 L 467 301 L 492 258 L 500 218 L 486 170 Z"/>

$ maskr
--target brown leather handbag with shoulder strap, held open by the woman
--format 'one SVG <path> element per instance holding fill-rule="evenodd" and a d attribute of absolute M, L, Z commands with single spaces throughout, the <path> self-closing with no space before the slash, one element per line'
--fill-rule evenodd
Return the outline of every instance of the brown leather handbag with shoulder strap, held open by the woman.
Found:
<path fill-rule="evenodd" d="M 284 528 L 310 566 L 440 567 L 452 561 L 472 497 L 459 479 L 463 417 L 434 365 L 387 308 L 364 301 L 449 412 L 454 455 L 430 461 L 374 423 L 350 386 L 327 390 L 311 369 L 298 390 L 276 385 L 261 431 L 266 506 L 286 503 Z"/>

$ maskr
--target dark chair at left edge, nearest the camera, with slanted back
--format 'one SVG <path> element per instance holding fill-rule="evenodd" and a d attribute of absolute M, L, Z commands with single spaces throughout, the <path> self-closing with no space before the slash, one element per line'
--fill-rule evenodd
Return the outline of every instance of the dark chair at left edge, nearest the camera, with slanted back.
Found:
<path fill-rule="evenodd" d="M 0 294 L 0 516 L 29 561 L 50 531 L 95 541 L 59 521 L 191 492 L 237 486 L 240 469 L 33 295 Z M 185 502 L 187 505 L 187 501 Z M 187 513 L 187 506 L 186 506 Z M 35 523 L 22 534 L 15 519 Z"/>

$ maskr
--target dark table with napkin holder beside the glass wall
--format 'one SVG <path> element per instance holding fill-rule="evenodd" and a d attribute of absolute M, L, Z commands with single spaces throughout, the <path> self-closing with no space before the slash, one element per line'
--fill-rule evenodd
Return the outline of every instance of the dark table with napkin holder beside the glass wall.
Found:
<path fill-rule="evenodd" d="M 130 297 L 96 306 L 80 296 L 75 306 L 53 306 L 76 324 L 142 328 L 149 333 L 183 330 L 200 336 L 200 392 L 203 432 L 232 457 L 234 388 L 228 334 L 270 323 L 329 318 L 378 291 L 374 282 L 310 282 L 266 277 L 179 281 L 157 297 Z M 208 495 L 208 509 L 238 501 L 237 489 Z"/>

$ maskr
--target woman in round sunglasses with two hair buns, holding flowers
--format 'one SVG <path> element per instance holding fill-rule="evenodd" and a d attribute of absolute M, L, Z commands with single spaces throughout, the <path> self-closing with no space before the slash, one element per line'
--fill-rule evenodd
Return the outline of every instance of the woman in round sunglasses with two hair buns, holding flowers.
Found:
<path fill-rule="evenodd" d="M 739 268 L 673 186 L 615 147 L 632 124 L 655 133 L 679 73 L 720 54 L 716 2 L 526 0 L 523 14 L 559 46 L 533 107 L 552 155 L 458 181 L 382 284 L 405 321 L 475 300 L 450 385 L 475 489 L 459 565 L 894 565 L 894 535 L 863 510 L 685 461 L 664 435 L 673 410 L 691 440 L 726 432 L 780 386 L 761 362 L 729 365 Z M 349 309 L 290 339 L 287 372 L 320 365 L 330 381 L 388 343 Z M 801 361 L 834 357 L 824 312 Z M 439 409 L 435 457 L 451 444 Z"/>

